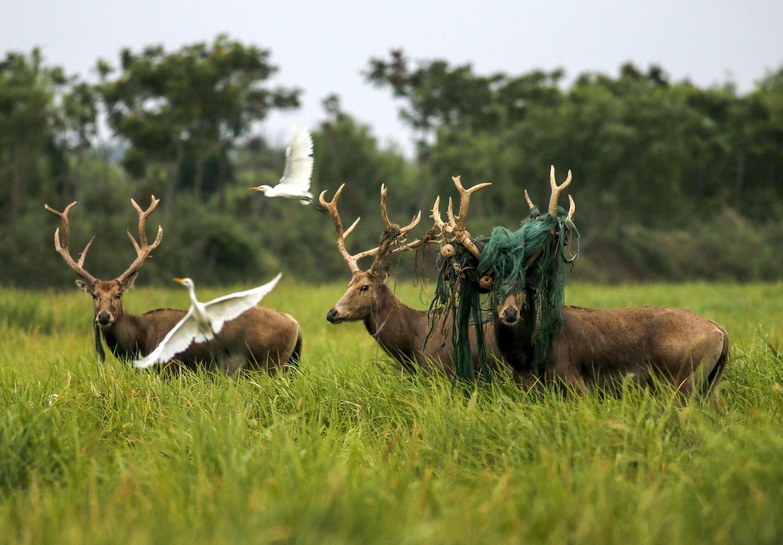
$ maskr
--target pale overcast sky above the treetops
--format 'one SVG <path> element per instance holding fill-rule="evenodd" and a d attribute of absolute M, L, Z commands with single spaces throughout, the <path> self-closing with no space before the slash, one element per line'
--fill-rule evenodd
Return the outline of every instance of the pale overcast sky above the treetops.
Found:
<path fill-rule="evenodd" d="M 221 32 L 272 50 L 275 81 L 305 90 L 303 107 L 273 114 L 262 131 L 282 142 L 294 122 L 314 126 L 321 100 L 410 151 L 410 131 L 388 90 L 363 81 L 370 56 L 403 48 L 413 59 L 471 62 L 479 72 L 565 67 L 616 74 L 632 60 L 673 78 L 742 90 L 783 64 L 783 2 L 154 2 L 0 0 L 0 51 L 43 49 L 53 64 L 95 78 L 99 56 L 121 47 L 176 48 Z"/>

